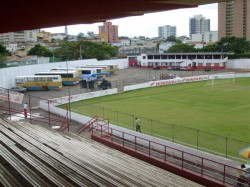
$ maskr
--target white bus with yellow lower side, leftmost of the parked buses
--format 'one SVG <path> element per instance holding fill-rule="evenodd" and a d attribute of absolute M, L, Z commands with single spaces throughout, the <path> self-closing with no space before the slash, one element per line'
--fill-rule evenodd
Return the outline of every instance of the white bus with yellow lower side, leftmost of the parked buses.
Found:
<path fill-rule="evenodd" d="M 15 78 L 16 86 L 25 87 L 27 90 L 54 90 L 62 87 L 62 78 L 60 75 L 33 75 L 17 76 Z"/>

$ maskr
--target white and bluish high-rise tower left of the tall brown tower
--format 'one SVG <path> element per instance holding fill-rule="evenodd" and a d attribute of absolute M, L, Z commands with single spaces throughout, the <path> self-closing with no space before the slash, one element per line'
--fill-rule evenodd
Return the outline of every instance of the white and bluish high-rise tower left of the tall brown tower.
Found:
<path fill-rule="evenodd" d="M 192 37 L 192 34 L 203 34 L 208 31 L 210 31 L 210 19 L 202 15 L 189 18 L 189 37 Z"/>

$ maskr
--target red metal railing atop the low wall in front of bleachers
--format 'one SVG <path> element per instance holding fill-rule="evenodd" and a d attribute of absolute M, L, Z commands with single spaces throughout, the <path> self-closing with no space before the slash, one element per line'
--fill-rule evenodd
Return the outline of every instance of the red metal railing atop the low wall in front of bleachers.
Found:
<path fill-rule="evenodd" d="M 93 130 L 93 132 L 92 136 L 100 137 L 127 150 L 160 161 L 162 164 L 174 165 L 197 177 L 211 180 L 218 186 L 237 186 L 238 168 L 110 127 L 99 126 L 98 130 Z M 246 174 L 250 173 L 246 172 Z"/>

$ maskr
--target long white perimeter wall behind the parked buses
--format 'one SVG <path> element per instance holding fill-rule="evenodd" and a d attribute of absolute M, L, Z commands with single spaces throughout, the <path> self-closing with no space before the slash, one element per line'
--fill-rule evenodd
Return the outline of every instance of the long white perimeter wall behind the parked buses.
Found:
<path fill-rule="evenodd" d="M 82 66 L 86 64 L 110 64 L 110 65 L 118 65 L 119 69 L 123 69 L 128 67 L 128 60 L 124 59 L 114 59 L 114 60 L 103 60 L 97 61 L 96 59 L 88 59 L 88 60 L 76 60 L 76 61 L 68 61 L 68 67 L 76 67 Z M 34 75 L 40 71 L 47 71 L 52 68 L 66 68 L 66 62 L 56 62 L 49 64 L 35 64 L 28 66 L 18 66 L 18 67 L 10 67 L 0 69 L 0 87 L 2 88 L 11 88 L 15 86 L 15 77 L 16 76 L 25 76 L 25 75 Z"/>

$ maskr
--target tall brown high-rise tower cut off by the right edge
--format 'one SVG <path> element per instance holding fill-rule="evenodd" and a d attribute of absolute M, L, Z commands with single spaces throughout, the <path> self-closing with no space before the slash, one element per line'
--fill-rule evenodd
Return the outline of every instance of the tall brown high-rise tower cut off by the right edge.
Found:
<path fill-rule="evenodd" d="M 218 5 L 218 37 L 246 37 L 250 41 L 250 1 L 234 0 Z"/>

